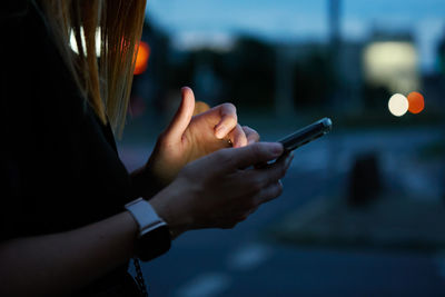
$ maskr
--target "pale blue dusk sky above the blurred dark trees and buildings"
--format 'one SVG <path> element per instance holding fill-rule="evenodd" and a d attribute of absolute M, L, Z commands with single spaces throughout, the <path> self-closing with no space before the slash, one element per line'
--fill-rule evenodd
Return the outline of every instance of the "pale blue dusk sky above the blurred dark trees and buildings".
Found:
<path fill-rule="evenodd" d="M 148 0 L 147 17 L 178 47 L 224 47 L 238 33 L 273 42 L 326 41 L 327 0 Z M 434 68 L 445 33 L 444 0 L 345 0 L 342 33 L 364 40 L 373 28 L 414 32 L 424 70 Z"/>

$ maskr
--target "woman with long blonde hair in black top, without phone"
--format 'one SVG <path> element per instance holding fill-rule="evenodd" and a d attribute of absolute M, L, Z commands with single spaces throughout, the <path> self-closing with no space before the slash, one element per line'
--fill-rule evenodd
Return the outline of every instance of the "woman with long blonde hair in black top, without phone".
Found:
<path fill-rule="evenodd" d="M 148 162 L 127 172 L 113 131 L 125 121 L 145 1 L 3 8 L 1 296 L 137 296 L 131 257 L 156 257 L 187 230 L 231 228 L 280 194 L 291 156 L 254 167 L 283 147 L 257 142 L 231 105 L 192 117 L 189 88 Z"/>

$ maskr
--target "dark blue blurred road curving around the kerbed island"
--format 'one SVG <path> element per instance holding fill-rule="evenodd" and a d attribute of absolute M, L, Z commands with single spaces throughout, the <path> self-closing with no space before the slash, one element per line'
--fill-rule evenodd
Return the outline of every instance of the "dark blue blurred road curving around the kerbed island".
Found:
<path fill-rule="evenodd" d="M 289 211 L 344 188 L 356 154 L 377 151 L 390 177 L 394 168 L 412 166 L 407 159 L 416 147 L 439 137 L 431 130 L 353 132 L 299 149 L 280 198 L 235 229 L 187 232 L 168 254 L 142 264 L 150 296 L 445 296 L 445 254 L 284 246 L 265 236 Z M 130 169 L 147 157 L 138 146 L 120 150 Z M 423 189 L 437 182 L 423 180 Z"/>

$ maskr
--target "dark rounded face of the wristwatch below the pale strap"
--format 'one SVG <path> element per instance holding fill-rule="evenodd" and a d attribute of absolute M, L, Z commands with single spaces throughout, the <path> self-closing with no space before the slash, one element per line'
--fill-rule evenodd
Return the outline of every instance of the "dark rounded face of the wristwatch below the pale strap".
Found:
<path fill-rule="evenodd" d="M 136 255 L 142 261 L 159 257 L 170 249 L 171 238 L 167 225 L 152 229 L 138 239 Z"/>

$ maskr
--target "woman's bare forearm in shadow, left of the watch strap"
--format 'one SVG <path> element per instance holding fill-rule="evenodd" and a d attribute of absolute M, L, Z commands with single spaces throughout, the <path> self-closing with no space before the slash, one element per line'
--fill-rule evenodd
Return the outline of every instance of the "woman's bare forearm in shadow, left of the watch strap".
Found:
<path fill-rule="evenodd" d="M 137 224 L 127 211 L 72 231 L 0 245 L 0 295 L 67 294 L 125 264 Z"/>

